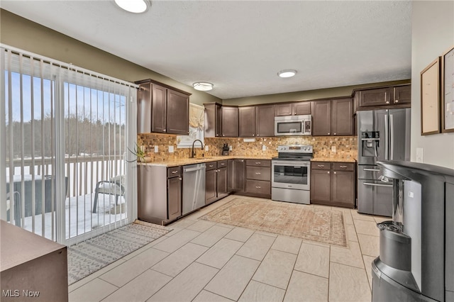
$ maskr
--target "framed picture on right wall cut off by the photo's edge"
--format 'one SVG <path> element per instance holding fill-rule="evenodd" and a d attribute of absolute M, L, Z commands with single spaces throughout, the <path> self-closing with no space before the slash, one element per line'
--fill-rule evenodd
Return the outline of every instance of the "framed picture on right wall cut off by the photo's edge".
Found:
<path fill-rule="evenodd" d="M 441 131 L 454 132 L 454 46 L 441 56 Z"/>

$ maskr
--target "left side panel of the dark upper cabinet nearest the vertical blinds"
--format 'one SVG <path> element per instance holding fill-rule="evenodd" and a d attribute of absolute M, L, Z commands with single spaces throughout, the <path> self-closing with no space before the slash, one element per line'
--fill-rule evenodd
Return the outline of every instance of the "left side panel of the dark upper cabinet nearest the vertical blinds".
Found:
<path fill-rule="evenodd" d="M 151 132 L 151 84 L 140 84 L 137 92 L 137 133 Z"/>

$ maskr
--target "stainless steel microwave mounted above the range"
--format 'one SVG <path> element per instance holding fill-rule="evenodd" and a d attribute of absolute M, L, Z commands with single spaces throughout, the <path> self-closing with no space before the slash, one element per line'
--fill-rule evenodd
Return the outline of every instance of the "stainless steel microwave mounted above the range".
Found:
<path fill-rule="evenodd" d="M 311 135 L 312 116 L 276 116 L 275 135 Z"/>

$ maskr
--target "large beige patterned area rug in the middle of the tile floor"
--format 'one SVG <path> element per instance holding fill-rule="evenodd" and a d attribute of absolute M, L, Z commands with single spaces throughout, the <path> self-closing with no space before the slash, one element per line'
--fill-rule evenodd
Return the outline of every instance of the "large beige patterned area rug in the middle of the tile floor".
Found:
<path fill-rule="evenodd" d="M 235 198 L 200 219 L 347 246 L 342 211 L 298 203 Z"/>

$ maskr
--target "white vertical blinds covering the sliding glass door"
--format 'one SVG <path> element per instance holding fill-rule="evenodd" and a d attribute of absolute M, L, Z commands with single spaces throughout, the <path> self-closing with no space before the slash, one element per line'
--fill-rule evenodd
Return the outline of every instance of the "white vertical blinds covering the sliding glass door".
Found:
<path fill-rule="evenodd" d="M 130 223 L 135 84 L 1 47 L 1 218 L 66 244 Z"/>

